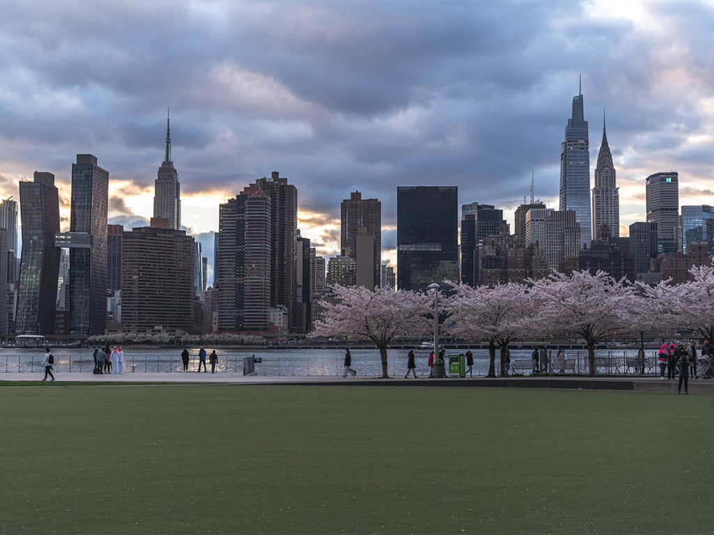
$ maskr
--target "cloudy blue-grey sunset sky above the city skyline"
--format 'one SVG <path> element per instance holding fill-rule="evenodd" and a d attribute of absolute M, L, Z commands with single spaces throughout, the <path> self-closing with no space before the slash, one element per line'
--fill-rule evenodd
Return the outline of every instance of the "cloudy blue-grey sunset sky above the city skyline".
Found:
<path fill-rule="evenodd" d="M 457 185 L 459 204 L 558 208 L 560 143 L 583 76 L 591 181 L 603 135 L 620 233 L 645 177 L 677 170 L 680 204 L 714 204 L 714 6 L 655 1 L 0 0 L 0 194 L 71 163 L 110 173 L 110 223 L 152 215 L 166 108 L 182 223 L 211 258 L 218 204 L 278 170 L 299 228 L 339 247 L 340 202 Z M 513 229 L 512 229 L 513 230 Z M 209 277 L 210 278 L 210 277 Z"/>

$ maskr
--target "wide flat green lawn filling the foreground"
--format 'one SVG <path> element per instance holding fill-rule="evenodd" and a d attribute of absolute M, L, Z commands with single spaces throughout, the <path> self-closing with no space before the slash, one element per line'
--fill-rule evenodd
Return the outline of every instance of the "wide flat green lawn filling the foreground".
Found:
<path fill-rule="evenodd" d="M 703 533 L 714 397 L 1 387 L 2 533 Z"/>

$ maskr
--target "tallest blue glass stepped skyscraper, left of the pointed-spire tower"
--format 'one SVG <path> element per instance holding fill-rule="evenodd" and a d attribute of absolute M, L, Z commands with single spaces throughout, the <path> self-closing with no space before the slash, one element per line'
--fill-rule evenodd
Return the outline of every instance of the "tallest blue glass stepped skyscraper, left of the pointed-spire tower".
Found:
<path fill-rule="evenodd" d="M 565 141 L 560 146 L 559 210 L 575 211 L 575 220 L 580 223 L 581 243 L 589 244 L 593 238 L 590 230 L 590 146 L 582 91 L 573 97 L 573 116 L 568 119 Z"/>

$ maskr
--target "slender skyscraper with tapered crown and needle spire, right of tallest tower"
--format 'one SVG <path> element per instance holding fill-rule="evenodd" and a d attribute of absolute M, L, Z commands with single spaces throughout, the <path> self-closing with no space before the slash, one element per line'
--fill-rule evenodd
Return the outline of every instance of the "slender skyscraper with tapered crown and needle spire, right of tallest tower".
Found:
<path fill-rule="evenodd" d="M 595 188 L 593 188 L 593 233 L 598 235 L 600 227 L 608 225 L 610 235 L 620 235 L 620 196 L 615 185 L 615 166 L 605 133 L 605 112 L 603 111 L 603 143 L 600 144 L 598 165 L 595 167 Z"/>

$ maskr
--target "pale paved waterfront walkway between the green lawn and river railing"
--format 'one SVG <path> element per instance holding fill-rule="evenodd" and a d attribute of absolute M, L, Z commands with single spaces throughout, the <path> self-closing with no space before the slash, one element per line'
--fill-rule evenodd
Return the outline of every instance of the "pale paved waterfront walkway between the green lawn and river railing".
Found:
<path fill-rule="evenodd" d="M 0 381 L 41 381 L 44 372 L 0 373 Z M 218 372 L 215 374 L 198 372 L 139 372 L 111 375 L 94 375 L 79 372 L 55 373 L 57 382 L 105 382 L 105 383 L 146 383 L 168 382 L 176 384 L 347 384 L 365 386 L 401 386 L 401 387 L 486 387 L 486 388 L 556 388 L 588 390 L 625 390 L 635 392 L 676 392 L 677 380 L 660 380 L 658 377 L 467 377 L 458 379 L 404 379 L 393 377 L 284 377 Z M 714 380 L 691 379 L 689 391 L 696 394 L 714 394 Z"/>

